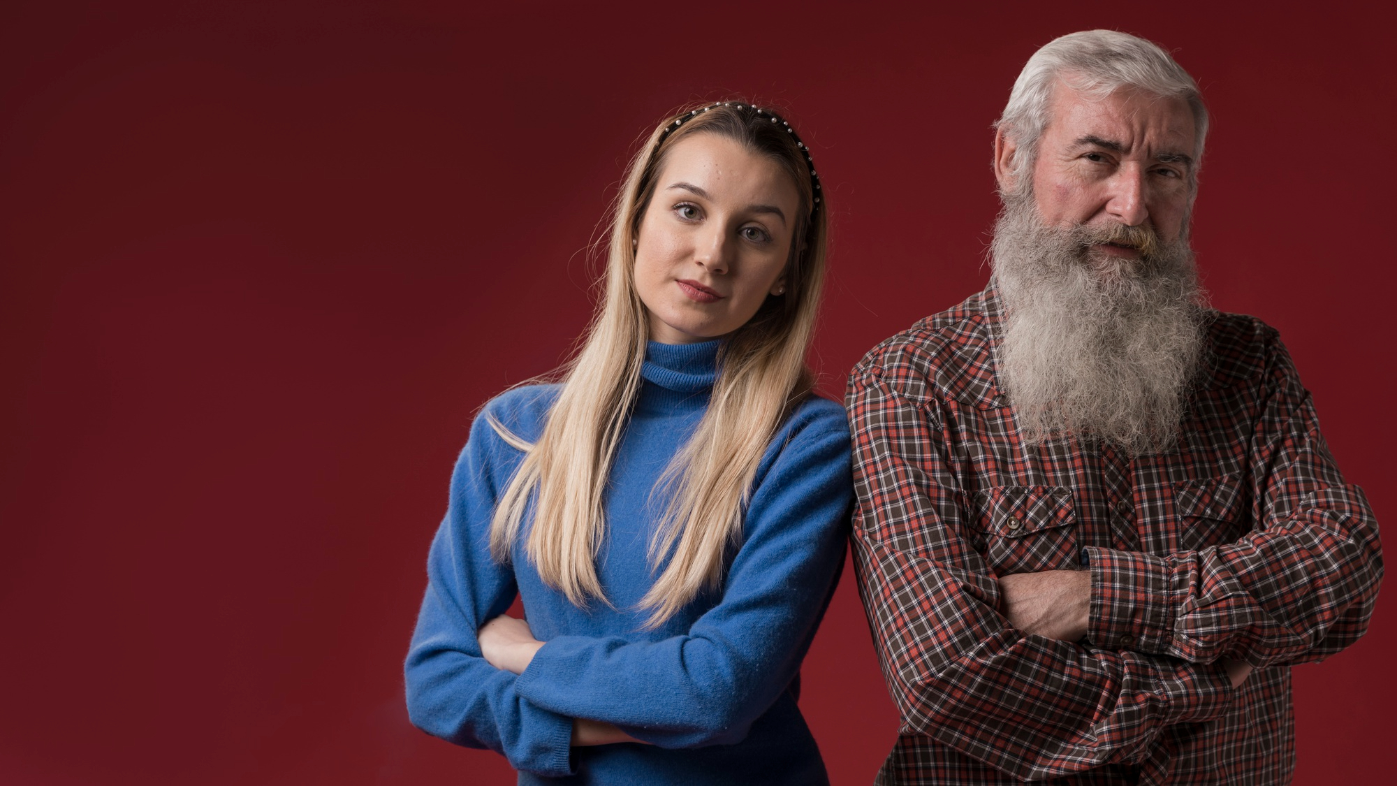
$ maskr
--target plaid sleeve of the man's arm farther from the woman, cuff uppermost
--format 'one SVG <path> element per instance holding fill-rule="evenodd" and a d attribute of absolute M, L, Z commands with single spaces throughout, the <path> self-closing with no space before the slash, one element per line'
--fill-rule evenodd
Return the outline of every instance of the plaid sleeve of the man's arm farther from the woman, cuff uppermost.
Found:
<path fill-rule="evenodd" d="M 1271 338 L 1238 481 L 1252 501 L 1241 512 L 1250 531 L 1168 557 L 1088 548 L 1090 641 L 1264 667 L 1323 659 L 1366 631 L 1383 573 L 1377 523 L 1362 490 L 1344 483 L 1309 393 Z"/>

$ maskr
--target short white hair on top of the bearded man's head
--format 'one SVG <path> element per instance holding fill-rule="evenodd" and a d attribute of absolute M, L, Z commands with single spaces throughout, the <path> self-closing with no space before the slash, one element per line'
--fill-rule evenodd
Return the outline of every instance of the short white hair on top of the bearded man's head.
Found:
<path fill-rule="evenodd" d="M 1045 43 L 1024 63 L 1009 103 L 995 127 L 1013 137 L 1014 171 L 1027 172 L 1038 155 L 1038 138 L 1048 126 L 1048 108 L 1058 80 L 1088 97 L 1105 98 L 1136 88 L 1164 98 L 1182 98 L 1193 110 L 1194 172 L 1203 161 L 1208 110 L 1193 77 L 1157 43 L 1112 29 L 1067 34 Z"/>

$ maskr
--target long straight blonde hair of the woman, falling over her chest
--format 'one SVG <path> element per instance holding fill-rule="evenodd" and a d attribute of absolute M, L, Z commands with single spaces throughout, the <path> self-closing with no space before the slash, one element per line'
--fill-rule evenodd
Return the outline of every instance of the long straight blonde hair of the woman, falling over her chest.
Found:
<path fill-rule="evenodd" d="M 700 133 L 721 134 L 785 168 L 800 194 L 787 292 L 768 296 L 718 352 L 708 410 L 661 476 L 657 494 L 671 502 L 651 536 L 650 561 L 668 564 L 641 599 L 658 627 L 704 589 L 722 580 L 724 555 L 742 536 L 757 464 L 781 421 L 812 389 L 805 357 L 824 281 L 826 214 L 809 152 L 785 120 L 747 102 L 686 108 L 659 124 L 631 159 L 612 213 L 605 295 L 538 442 L 500 422 L 503 439 L 525 452 L 490 522 L 490 551 L 507 561 L 529 502 L 524 552 L 542 580 L 576 606 L 609 603 L 597 578 L 605 537 L 602 495 L 616 446 L 640 392 L 648 341 L 645 306 L 634 285 L 634 239 L 669 150 Z"/>

